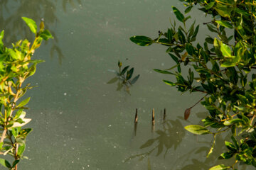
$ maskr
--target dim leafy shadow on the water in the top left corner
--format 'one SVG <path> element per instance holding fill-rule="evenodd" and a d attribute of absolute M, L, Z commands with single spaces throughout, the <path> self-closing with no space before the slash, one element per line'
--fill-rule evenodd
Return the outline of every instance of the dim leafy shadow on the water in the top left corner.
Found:
<path fill-rule="evenodd" d="M 53 58 L 55 54 L 58 56 L 58 61 L 61 64 L 64 58 L 63 52 L 58 46 L 58 37 L 53 31 L 53 27 L 58 23 L 56 16 L 56 4 L 60 0 L 1 0 L 0 1 L 0 23 L 1 30 L 5 31 L 4 41 L 6 46 L 10 46 L 12 42 L 17 42 L 20 39 L 27 38 L 33 40 L 33 35 L 21 20 L 22 16 L 33 18 L 36 23 L 45 21 L 46 29 L 53 34 L 53 44 L 50 48 L 50 57 Z M 77 2 L 77 3 L 76 3 Z M 62 0 L 63 11 L 66 11 L 67 5 L 75 6 L 81 4 L 80 0 Z M 47 43 L 47 42 L 46 42 Z"/>

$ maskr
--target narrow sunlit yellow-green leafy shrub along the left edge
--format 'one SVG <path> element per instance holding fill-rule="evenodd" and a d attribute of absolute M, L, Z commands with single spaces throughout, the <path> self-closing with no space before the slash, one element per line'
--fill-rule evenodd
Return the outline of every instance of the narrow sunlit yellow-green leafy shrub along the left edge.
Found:
<path fill-rule="evenodd" d="M 14 157 L 14 162 L 10 163 L 6 159 L 0 159 L 0 164 L 7 169 L 17 169 L 20 159 L 26 158 L 23 152 L 26 148 L 26 137 L 31 128 L 22 128 L 31 119 L 25 118 L 28 109 L 26 104 L 30 97 L 19 101 L 26 94 L 28 89 L 32 89 L 31 84 L 23 85 L 28 77 L 36 72 L 36 65 L 43 60 L 32 60 L 35 50 L 40 47 L 43 40 L 53 38 L 48 30 L 44 29 L 41 22 L 37 28 L 36 22 L 31 18 L 22 17 L 31 32 L 35 34 L 35 40 L 31 45 L 28 40 L 19 40 L 13 47 L 4 45 L 4 30 L 0 33 L 0 125 L 1 140 L 0 154 Z"/>

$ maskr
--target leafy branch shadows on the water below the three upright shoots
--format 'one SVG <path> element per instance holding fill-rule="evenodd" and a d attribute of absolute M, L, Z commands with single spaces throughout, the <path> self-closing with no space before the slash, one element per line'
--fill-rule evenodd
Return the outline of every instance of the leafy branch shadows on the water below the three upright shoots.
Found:
<path fill-rule="evenodd" d="M 198 118 L 205 118 L 206 113 L 197 113 L 196 115 Z M 178 146 L 181 145 L 182 141 L 183 143 L 186 142 L 183 140 L 183 138 L 185 137 L 187 131 L 183 128 L 184 125 L 181 122 L 182 120 L 183 118 L 178 116 L 178 119 L 176 120 L 164 121 L 164 123 L 161 124 L 162 127 L 155 131 L 157 136 L 154 135 L 156 137 L 146 140 L 146 142 L 139 147 L 139 149 L 146 149 L 146 152 L 134 154 L 127 158 L 124 162 L 129 162 L 131 159 L 138 159 L 139 161 L 142 161 L 143 159 L 147 158 L 147 169 L 151 169 L 151 156 L 159 157 L 161 154 L 163 154 L 164 159 L 168 157 L 168 154 L 171 154 L 173 149 L 178 149 Z M 137 125 L 135 125 L 134 128 L 137 128 Z M 196 139 L 194 139 L 200 145 L 200 147 L 189 147 L 187 145 L 188 148 L 186 149 L 186 153 L 183 153 L 176 158 L 174 164 L 172 164 L 172 167 L 176 167 L 174 168 L 175 170 L 206 170 L 210 169 L 210 167 L 216 164 L 233 164 L 233 159 L 218 160 L 220 154 L 227 151 L 227 148 L 225 145 L 223 145 L 223 142 L 230 139 L 229 134 L 217 135 L 213 154 L 211 154 L 208 158 L 206 158 L 206 155 L 208 154 L 213 141 L 200 141 L 200 139 L 201 137 L 198 136 Z M 188 138 L 186 138 L 186 140 L 188 140 Z M 173 168 L 170 167 L 170 169 Z M 247 169 L 247 166 L 239 166 L 239 169 L 245 170 Z"/>

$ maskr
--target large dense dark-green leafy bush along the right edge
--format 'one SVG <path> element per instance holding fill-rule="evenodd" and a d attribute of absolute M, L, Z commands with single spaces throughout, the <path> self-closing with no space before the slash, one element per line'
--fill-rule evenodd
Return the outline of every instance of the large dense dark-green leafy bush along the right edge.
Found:
<path fill-rule="evenodd" d="M 181 26 L 171 23 L 165 33 L 159 32 L 156 39 L 146 36 L 130 38 L 137 45 L 153 43 L 168 47 L 166 52 L 176 63 L 170 69 L 154 69 L 162 74 L 171 74 L 176 82 L 164 80 L 176 86 L 182 93 L 199 92 L 206 94 L 200 101 L 209 115 L 202 120 L 203 126 L 188 125 L 186 130 L 197 135 L 213 135 L 213 145 L 207 157 L 213 152 L 215 136 L 232 132 L 230 141 L 225 141 L 228 152 L 220 159 L 235 158 L 230 166 L 223 164 L 211 169 L 235 169 L 235 164 L 256 167 L 256 1 L 252 0 L 182 0 L 185 15 L 172 6 Z M 187 26 L 191 9 L 200 5 L 199 10 L 211 21 L 203 23 L 213 36 L 207 35 L 205 42 L 196 42 L 199 25 Z M 230 35 L 228 35 L 230 34 Z M 184 77 L 181 69 L 189 67 Z M 171 72 L 171 70 L 177 69 Z M 193 107 L 191 107 L 193 108 Z M 191 108 L 185 111 L 188 118 Z"/>

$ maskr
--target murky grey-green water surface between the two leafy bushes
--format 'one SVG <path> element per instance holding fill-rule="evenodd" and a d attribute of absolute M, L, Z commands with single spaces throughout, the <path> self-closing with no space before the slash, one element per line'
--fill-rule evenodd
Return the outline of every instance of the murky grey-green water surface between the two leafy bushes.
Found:
<path fill-rule="evenodd" d="M 28 126 L 33 133 L 25 152 L 29 159 L 19 169 L 204 170 L 231 164 L 217 161 L 225 150 L 225 135 L 218 137 L 214 154 L 206 159 L 211 136 L 196 137 L 183 129 L 206 116 L 204 108 L 196 106 L 189 120 L 183 120 L 185 109 L 203 94 L 181 95 L 161 81 L 173 77 L 152 70 L 174 64 L 165 47 L 139 47 L 129 41 L 132 35 L 154 38 L 158 30 L 169 28 L 169 18 L 174 18 L 171 6 L 183 8 L 181 2 L 167 0 L 0 1 L 0 29 L 6 30 L 9 44 L 31 39 L 21 16 L 38 23 L 43 18 L 55 37 L 35 55 L 46 62 L 30 79 L 38 86 L 27 94 L 32 96 L 28 117 L 33 121 Z M 192 18 L 208 21 L 196 9 Z M 205 33 L 201 26 L 199 40 Z M 125 88 L 117 90 L 118 82 L 110 84 L 115 75 L 108 69 L 118 69 L 118 60 L 141 76 L 129 93 Z"/>

